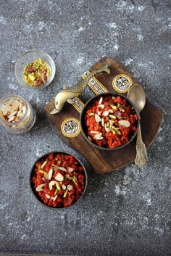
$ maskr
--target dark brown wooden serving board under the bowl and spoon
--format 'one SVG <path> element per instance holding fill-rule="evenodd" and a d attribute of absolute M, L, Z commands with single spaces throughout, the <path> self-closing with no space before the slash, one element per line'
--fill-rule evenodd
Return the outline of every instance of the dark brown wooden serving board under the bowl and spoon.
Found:
<path fill-rule="evenodd" d="M 95 79 L 99 81 L 103 86 L 105 86 L 107 91 L 114 92 L 114 88 L 112 87 L 112 80 L 114 76 L 121 73 L 129 75 L 129 77 L 133 80 L 133 83 L 136 83 L 135 78 L 133 78 L 133 76 L 128 73 L 125 67 L 108 57 L 100 59 L 99 62 L 96 62 L 96 64 L 91 67 L 90 70 L 97 69 L 104 62 L 108 62 L 109 64 L 109 70 L 111 71 L 110 75 L 107 73 L 99 73 L 96 75 Z M 51 101 L 45 107 L 46 116 L 49 120 L 49 123 L 57 132 L 60 139 L 67 143 L 68 146 L 72 146 L 72 148 L 86 157 L 95 173 L 107 173 L 112 170 L 117 170 L 135 160 L 136 138 L 130 144 L 128 144 L 128 146 L 125 146 L 122 149 L 117 149 L 114 151 L 96 149 L 95 147 L 88 144 L 81 133 L 79 133 L 79 135 L 75 138 L 68 138 L 63 135 L 61 131 L 62 122 L 68 117 L 75 117 L 78 120 L 80 118 L 80 113 L 75 109 L 75 107 L 72 106 L 72 104 L 65 103 L 61 112 L 56 115 L 50 115 L 50 111 L 53 109 L 54 101 Z M 154 107 L 149 102 L 149 100 L 146 99 L 146 105 L 141 112 L 141 131 L 146 147 L 149 147 L 151 142 L 154 140 L 161 122 L 162 111 L 158 110 L 157 107 Z"/>

